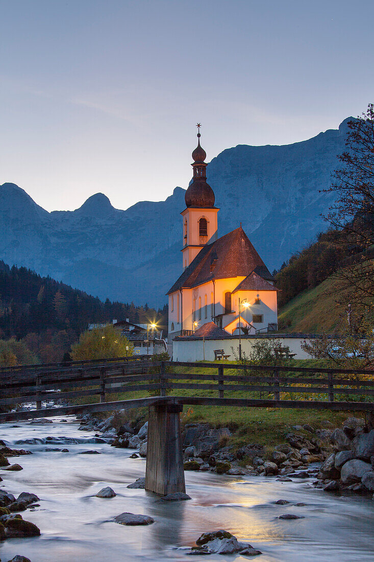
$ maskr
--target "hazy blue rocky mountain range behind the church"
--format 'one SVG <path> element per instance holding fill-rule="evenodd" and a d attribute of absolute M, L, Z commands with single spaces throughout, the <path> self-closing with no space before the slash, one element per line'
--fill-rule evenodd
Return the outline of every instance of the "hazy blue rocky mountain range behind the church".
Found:
<path fill-rule="evenodd" d="M 208 164 L 216 195 L 218 235 L 241 222 L 271 271 L 326 229 L 336 156 L 345 148 L 346 119 L 303 142 L 238 145 Z M 126 211 L 97 193 L 75 211 L 39 207 L 12 183 L 0 187 L 0 259 L 79 287 L 101 298 L 161 306 L 181 273 L 185 190 Z"/>

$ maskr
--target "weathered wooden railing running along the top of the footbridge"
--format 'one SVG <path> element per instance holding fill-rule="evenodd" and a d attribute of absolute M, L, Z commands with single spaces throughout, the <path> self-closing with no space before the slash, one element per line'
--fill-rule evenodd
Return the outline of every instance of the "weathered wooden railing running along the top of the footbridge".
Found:
<path fill-rule="evenodd" d="M 221 361 L 199 364 L 152 361 L 150 364 L 148 360 L 128 359 L 57 365 L 51 365 L 49 370 L 43 365 L 43 371 L 38 365 L 34 371 L 0 373 L 0 409 L 36 402 L 40 410 L 43 401 L 96 399 L 97 396 L 104 404 L 108 395 L 142 392 L 144 397 L 135 396 L 125 401 L 126 404 L 138 404 L 143 398 L 151 398 L 152 393 L 152 400 L 169 397 L 179 404 L 374 410 L 374 373 L 366 370 L 248 366 Z M 186 368 L 188 372 L 184 372 Z M 200 368 L 206 372 L 193 372 Z M 180 391 L 183 395 L 178 396 Z M 120 409 L 124 401 L 110 404 Z M 92 406 L 76 407 L 80 411 L 92 411 Z M 18 414 L 0 414 L 0 421 L 20 419 Z M 34 414 L 31 411 L 30 417 Z M 15 417 L 11 418 L 12 415 Z M 35 416 L 39 417 L 40 412 Z"/>

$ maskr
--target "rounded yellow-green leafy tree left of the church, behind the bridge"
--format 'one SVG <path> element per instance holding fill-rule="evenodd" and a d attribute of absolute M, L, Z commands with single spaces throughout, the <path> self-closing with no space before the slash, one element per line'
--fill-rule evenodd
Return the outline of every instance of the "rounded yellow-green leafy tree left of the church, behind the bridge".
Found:
<path fill-rule="evenodd" d="M 126 347 L 129 347 L 126 350 Z M 111 359 L 133 355 L 134 346 L 112 324 L 95 328 L 80 335 L 79 342 L 71 346 L 71 359 Z"/>

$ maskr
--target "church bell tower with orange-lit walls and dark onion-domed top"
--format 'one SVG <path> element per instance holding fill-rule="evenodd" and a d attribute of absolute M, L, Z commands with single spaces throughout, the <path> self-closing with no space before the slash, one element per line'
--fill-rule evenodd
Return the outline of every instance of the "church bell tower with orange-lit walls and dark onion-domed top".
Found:
<path fill-rule="evenodd" d="M 198 126 L 198 146 L 192 153 L 194 170 L 193 182 L 185 193 L 186 209 L 183 216 L 183 269 L 186 269 L 199 251 L 206 245 L 217 240 L 217 213 L 215 194 L 207 183 L 204 160 L 206 152 L 200 146 L 200 124 Z"/>

